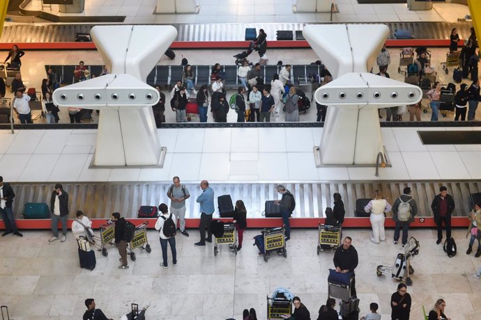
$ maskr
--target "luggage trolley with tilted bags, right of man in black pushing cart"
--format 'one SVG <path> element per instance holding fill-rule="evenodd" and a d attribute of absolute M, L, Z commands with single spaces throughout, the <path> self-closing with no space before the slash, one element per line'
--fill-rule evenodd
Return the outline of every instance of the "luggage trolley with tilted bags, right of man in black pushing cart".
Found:
<path fill-rule="evenodd" d="M 404 253 L 398 253 L 393 266 L 379 265 L 376 269 L 378 277 L 388 275 L 399 281 L 406 279 L 406 285 L 413 285 L 410 275 L 414 273 L 411 259 L 419 253 L 419 241 L 411 237 L 404 246 Z"/>

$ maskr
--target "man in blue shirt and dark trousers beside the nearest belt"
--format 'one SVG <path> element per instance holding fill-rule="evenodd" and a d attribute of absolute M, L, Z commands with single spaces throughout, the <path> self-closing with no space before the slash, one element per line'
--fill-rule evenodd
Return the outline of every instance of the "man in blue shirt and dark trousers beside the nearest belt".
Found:
<path fill-rule="evenodd" d="M 214 191 L 208 186 L 207 180 L 201 181 L 202 193 L 197 197 L 197 202 L 200 204 L 201 220 L 199 223 L 199 242 L 194 243 L 195 246 L 205 246 L 206 241 L 212 242 L 211 222 L 212 214 L 214 213 Z M 206 238 L 207 228 L 207 238 Z"/>

